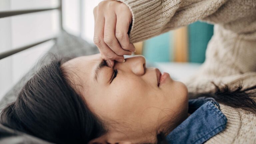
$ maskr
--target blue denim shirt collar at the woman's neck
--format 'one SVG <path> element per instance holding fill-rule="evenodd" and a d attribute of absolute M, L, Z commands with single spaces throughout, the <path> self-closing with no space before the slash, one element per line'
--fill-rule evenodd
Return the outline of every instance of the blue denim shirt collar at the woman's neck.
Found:
<path fill-rule="evenodd" d="M 202 144 L 223 131 L 227 118 L 219 107 L 213 98 L 189 100 L 188 112 L 192 114 L 167 135 L 168 144 Z"/>

